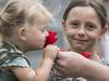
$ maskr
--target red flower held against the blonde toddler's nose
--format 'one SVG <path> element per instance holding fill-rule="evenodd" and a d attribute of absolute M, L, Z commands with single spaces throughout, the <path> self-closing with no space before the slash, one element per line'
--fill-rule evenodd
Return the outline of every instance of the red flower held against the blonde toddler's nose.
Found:
<path fill-rule="evenodd" d="M 46 38 L 46 43 L 45 46 L 47 46 L 48 44 L 53 44 L 56 43 L 56 41 L 58 40 L 58 38 L 56 37 L 58 33 L 56 31 L 48 31 L 49 36 Z"/>

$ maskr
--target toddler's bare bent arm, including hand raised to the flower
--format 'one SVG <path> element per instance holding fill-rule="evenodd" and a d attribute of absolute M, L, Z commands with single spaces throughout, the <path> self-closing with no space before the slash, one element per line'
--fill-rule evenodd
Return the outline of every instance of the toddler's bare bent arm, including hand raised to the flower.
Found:
<path fill-rule="evenodd" d="M 32 68 L 13 67 L 12 71 L 20 81 L 47 81 L 58 51 L 58 46 L 48 45 L 44 50 L 43 60 L 37 70 L 33 70 Z"/>

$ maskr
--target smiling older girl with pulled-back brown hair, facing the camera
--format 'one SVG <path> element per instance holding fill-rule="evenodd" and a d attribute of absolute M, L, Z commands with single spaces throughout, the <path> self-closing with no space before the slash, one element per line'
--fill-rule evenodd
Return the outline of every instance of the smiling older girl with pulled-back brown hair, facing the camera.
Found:
<path fill-rule="evenodd" d="M 62 25 L 70 43 L 70 51 L 80 54 L 88 52 L 92 54 L 88 57 L 89 59 L 101 63 L 97 46 L 107 29 L 107 13 L 100 2 L 95 0 L 71 0 L 63 14 Z M 66 64 L 66 66 L 69 65 L 70 63 Z M 53 75 L 57 73 L 56 71 L 53 69 L 51 73 L 51 81 L 73 81 L 73 78 L 62 79 Z M 76 80 L 86 81 L 83 78 Z"/>

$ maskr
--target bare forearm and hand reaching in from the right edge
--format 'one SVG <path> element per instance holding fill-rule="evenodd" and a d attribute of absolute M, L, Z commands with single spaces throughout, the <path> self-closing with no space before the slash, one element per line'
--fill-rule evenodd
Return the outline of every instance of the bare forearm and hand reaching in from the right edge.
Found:
<path fill-rule="evenodd" d="M 83 77 L 90 81 L 109 81 L 109 67 L 87 59 L 75 52 L 60 52 L 57 64 L 60 76 L 64 78 Z"/>

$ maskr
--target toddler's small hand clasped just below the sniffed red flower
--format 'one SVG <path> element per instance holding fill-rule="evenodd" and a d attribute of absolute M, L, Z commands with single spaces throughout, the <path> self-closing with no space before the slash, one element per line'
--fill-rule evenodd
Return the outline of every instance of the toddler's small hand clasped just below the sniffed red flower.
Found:
<path fill-rule="evenodd" d="M 55 60 L 58 53 L 59 48 L 57 45 L 49 44 L 44 50 L 44 58 L 50 58 L 51 60 Z"/>

